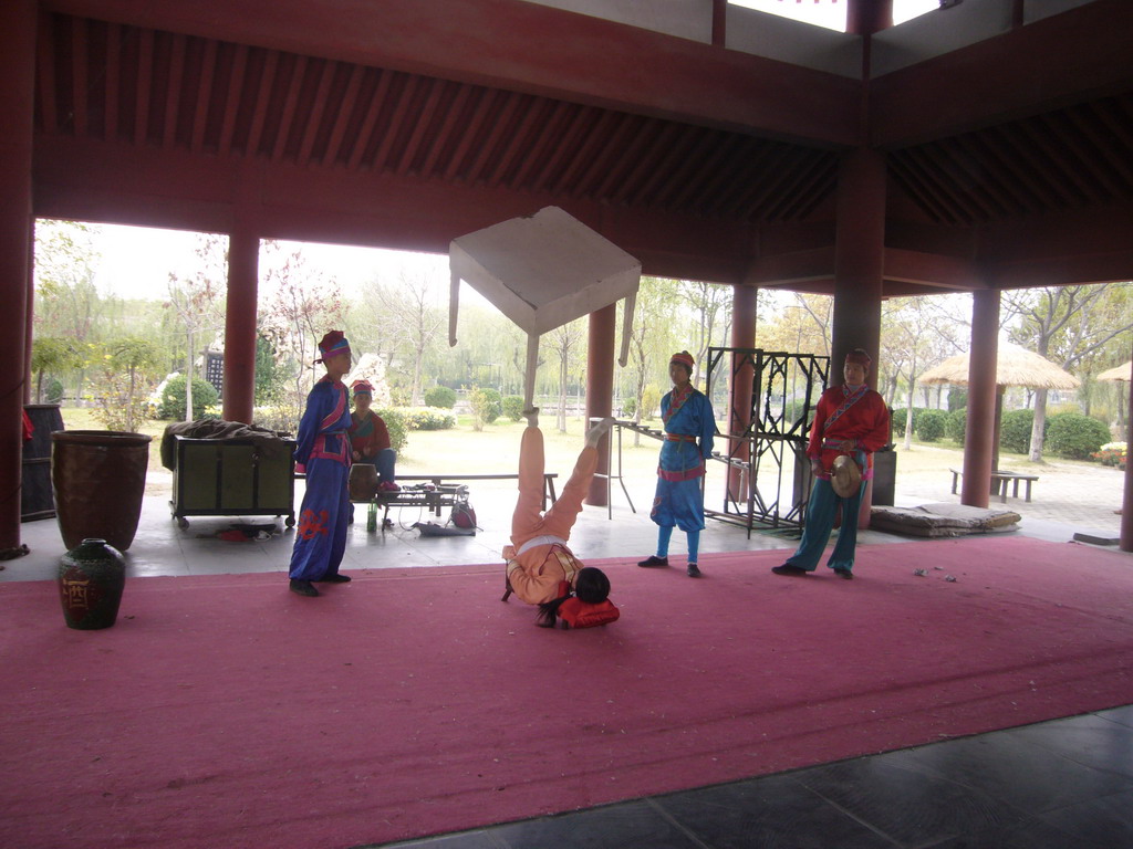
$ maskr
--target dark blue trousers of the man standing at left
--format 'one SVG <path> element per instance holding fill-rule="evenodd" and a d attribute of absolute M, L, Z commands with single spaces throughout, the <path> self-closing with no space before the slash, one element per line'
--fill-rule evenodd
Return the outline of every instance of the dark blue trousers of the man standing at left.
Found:
<path fill-rule="evenodd" d="M 333 460 L 307 463 L 307 491 L 295 529 L 289 577 L 321 581 L 337 575 L 347 549 L 347 522 L 353 505 L 347 479 L 350 468 Z"/>

